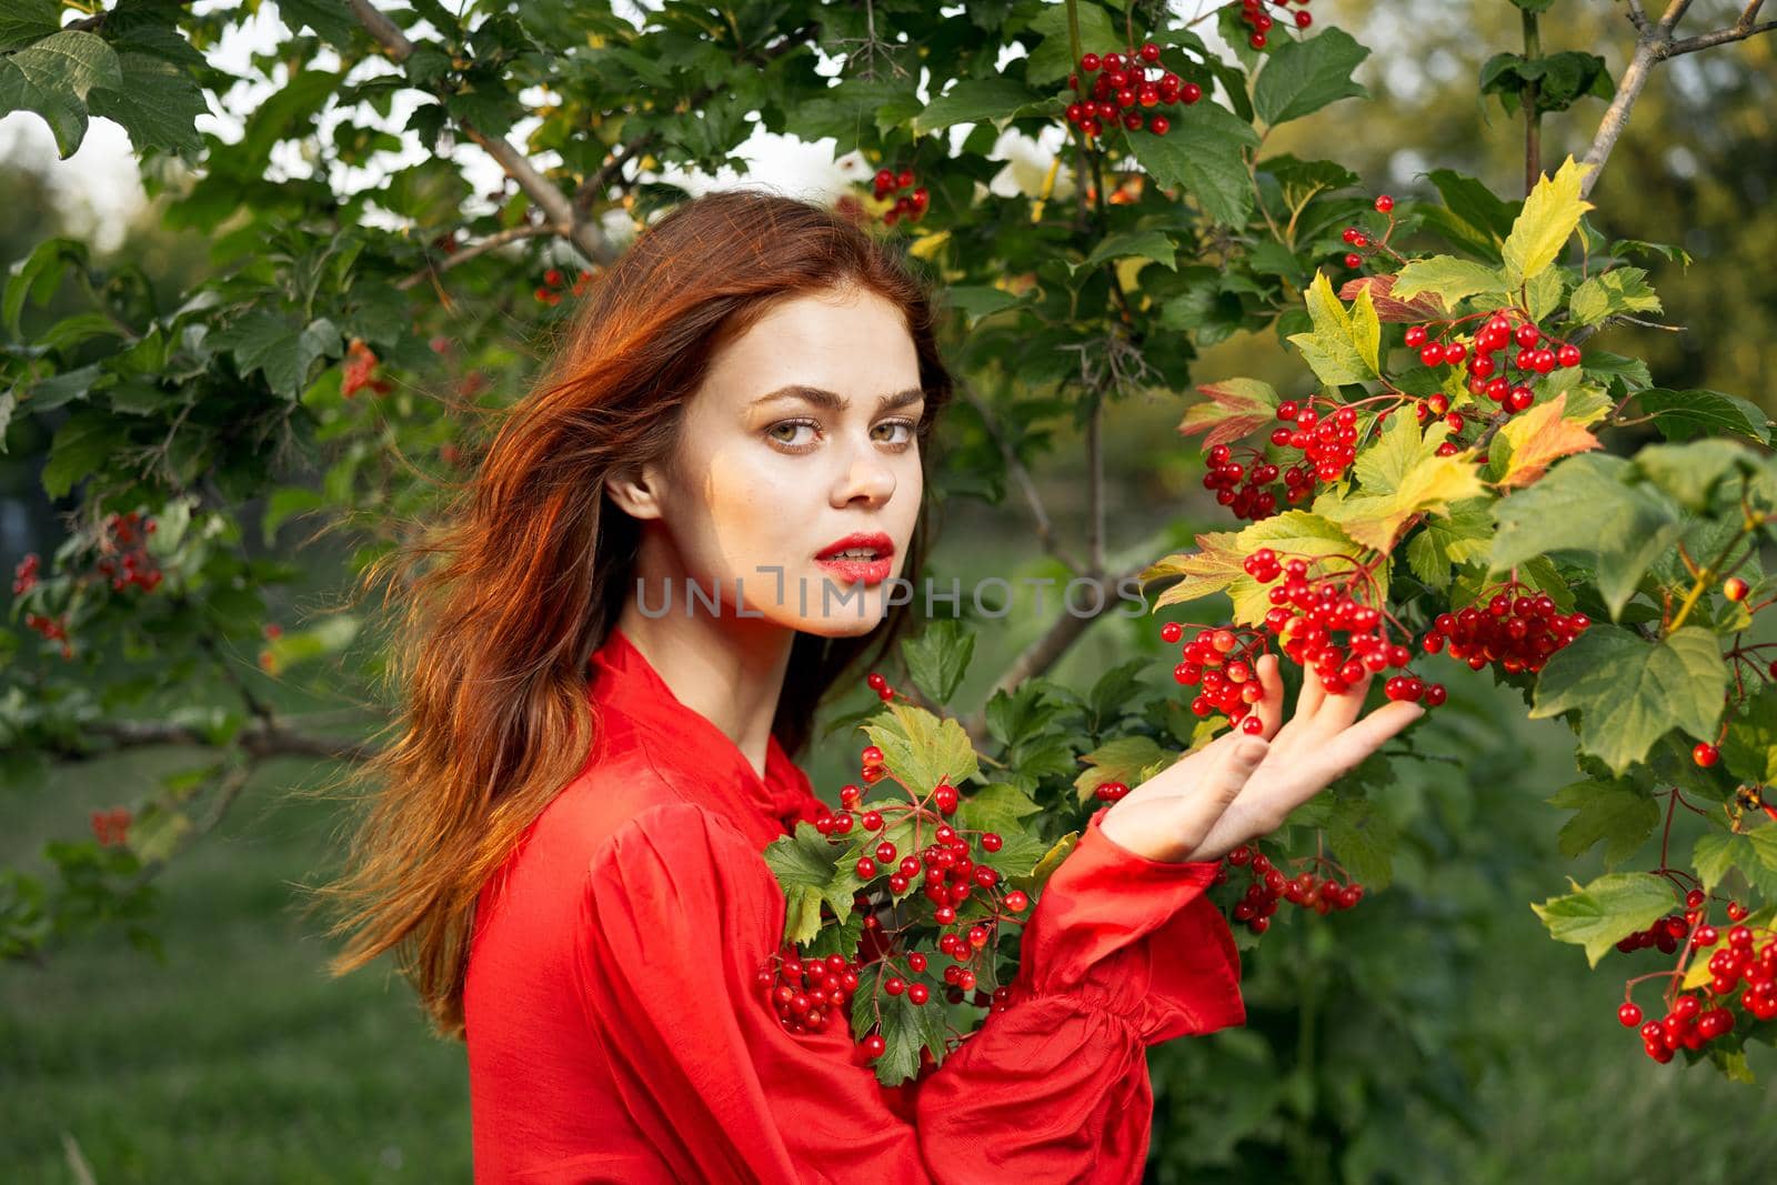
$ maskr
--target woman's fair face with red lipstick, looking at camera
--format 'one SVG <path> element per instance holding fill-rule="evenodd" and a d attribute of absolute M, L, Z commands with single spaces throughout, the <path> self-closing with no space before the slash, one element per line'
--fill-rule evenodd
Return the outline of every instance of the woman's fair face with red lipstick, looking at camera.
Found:
<path fill-rule="evenodd" d="M 778 625 L 874 629 L 924 492 L 922 410 L 919 354 L 894 304 L 848 288 L 773 306 L 714 355 L 672 464 L 613 483 L 629 513 L 657 519 L 638 569 L 643 608 L 659 615 L 670 579 L 670 615 L 686 613 L 695 581 L 705 599 L 689 613 L 713 613 L 720 585 L 721 616 L 739 588 L 750 616 Z M 830 560 L 841 549 L 860 558 Z"/>

